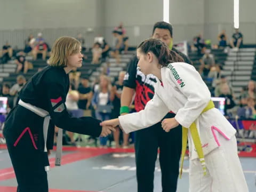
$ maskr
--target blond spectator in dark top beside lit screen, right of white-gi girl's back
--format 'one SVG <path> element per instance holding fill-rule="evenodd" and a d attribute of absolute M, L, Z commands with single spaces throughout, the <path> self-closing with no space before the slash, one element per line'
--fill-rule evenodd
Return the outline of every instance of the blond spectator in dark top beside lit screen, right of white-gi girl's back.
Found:
<path fill-rule="evenodd" d="M 221 85 L 221 94 L 219 95 L 219 97 L 225 98 L 226 102 L 225 102 L 225 116 L 226 117 L 231 117 L 231 115 L 229 115 L 227 113 L 228 109 L 232 109 L 236 106 L 236 103 L 234 101 L 233 95 L 231 94 L 231 91 L 229 89 L 229 85 L 227 83 L 223 83 Z"/>

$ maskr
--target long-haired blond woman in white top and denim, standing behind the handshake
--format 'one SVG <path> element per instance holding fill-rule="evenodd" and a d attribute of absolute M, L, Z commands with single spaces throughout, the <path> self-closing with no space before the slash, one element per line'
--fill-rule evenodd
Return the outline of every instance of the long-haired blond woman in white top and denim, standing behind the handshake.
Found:
<path fill-rule="evenodd" d="M 111 83 L 107 76 L 100 77 L 99 90 L 94 92 L 92 98 L 92 106 L 95 110 L 95 117 L 101 121 L 110 119 L 112 111 L 112 101 L 114 94 L 111 91 Z M 108 137 L 100 137 L 100 145 L 107 147 Z"/>

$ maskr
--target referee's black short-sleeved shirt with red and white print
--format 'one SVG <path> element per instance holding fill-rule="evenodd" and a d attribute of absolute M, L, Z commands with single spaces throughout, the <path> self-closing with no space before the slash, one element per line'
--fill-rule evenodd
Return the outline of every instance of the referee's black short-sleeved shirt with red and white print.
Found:
<path fill-rule="evenodd" d="M 174 48 L 172 48 L 172 51 L 178 53 L 183 58 L 184 62 L 192 64 L 185 54 Z M 154 85 L 157 82 L 157 77 L 152 74 L 145 76 L 140 70 L 137 70 L 137 63 L 138 59 L 134 56 L 127 67 L 127 73 L 124 76 L 124 86 L 135 89 L 134 106 L 136 111 L 140 111 L 144 109 L 146 103 L 153 98 L 155 90 Z"/>

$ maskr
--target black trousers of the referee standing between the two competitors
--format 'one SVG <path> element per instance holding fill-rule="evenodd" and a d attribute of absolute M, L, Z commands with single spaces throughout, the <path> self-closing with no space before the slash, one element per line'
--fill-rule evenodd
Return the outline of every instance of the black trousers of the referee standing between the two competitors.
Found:
<path fill-rule="evenodd" d="M 170 118 L 170 117 L 169 117 Z M 161 123 L 135 132 L 138 192 L 153 192 L 158 147 L 163 192 L 177 190 L 181 155 L 181 126 L 166 133 Z"/>

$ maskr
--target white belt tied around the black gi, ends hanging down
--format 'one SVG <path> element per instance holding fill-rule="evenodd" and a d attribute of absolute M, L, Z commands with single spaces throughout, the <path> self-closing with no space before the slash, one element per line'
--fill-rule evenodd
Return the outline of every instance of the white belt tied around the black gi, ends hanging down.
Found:
<path fill-rule="evenodd" d="M 46 142 L 47 142 L 47 132 L 49 128 L 49 123 L 50 123 L 50 115 L 49 112 L 41 109 L 39 107 L 33 106 L 29 103 L 23 102 L 21 99 L 19 100 L 18 104 L 22 107 L 25 107 L 26 109 L 34 112 L 40 117 L 44 118 L 44 124 L 43 124 L 43 133 L 44 133 L 44 152 L 47 153 L 47 147 L 46 147 Z M 62 129 L 59 129 L 58 131 L 58 140 L 57 140 L 57 151 L 56 151 L 56 157 L 55 157 L 55 165 L 60 165 L 61 162 L 61 153 L 62 153 Z M 45 171 L 49 171 L 50 167 L 45 166 Z"/>

